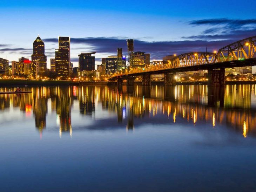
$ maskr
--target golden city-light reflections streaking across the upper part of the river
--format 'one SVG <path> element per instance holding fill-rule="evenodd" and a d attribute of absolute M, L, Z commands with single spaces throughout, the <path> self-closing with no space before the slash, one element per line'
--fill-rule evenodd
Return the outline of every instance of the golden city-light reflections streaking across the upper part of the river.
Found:
<path fill-rule="evenodd" d="M 225 126 L 248 137 L 256 131 L 255 88 L 255 85 L 227 85 L 225 88 L 207 88 L 206 85 L 34 87 L 28 88 L 32 94 L 0 95 L 0 112 L 8 114 L 9 109 L 19 109 L 26 117 L 33 113 L 40 134 L 47 127 L 47 115 L 56 116 L 60 137 L 62 132 L 72 136 L 71 114 L 81 119 L 89 117 L 94 121 L 90 125 L 94 129 L 121 126 L 128 131 L 147 122 L 179 123 L 206 128 Z M 7 89 L 0 88 L 0 91 Z M 81 124 L 88 128 L 87 120 Z"/>

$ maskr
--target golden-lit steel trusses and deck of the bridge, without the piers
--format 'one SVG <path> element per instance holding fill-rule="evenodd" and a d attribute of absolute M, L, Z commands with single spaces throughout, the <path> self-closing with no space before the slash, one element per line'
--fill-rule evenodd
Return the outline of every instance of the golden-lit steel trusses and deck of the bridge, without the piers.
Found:
<path fill-rule="evenodd" d="M 153 61 L 145 67 L 117 71 L 109 80 L 143 74 L 177 73 L 196 70 L 225 69 L 256 65 L 256 36 L 236 41 L 217 53 L 190 52 L 172 56 L 166 63 Z"/>

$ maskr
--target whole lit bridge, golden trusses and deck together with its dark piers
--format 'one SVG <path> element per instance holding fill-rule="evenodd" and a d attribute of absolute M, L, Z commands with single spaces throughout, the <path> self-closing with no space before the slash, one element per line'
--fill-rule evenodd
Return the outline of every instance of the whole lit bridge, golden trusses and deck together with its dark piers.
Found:
<path fill-rule="evenodd" d="M 153 61 L 144 67 L 129 67 L 123 71 L 117 71 L 109 78 L 119 85 L 123 79 L 127 85 L 134 84 L 134 77 L 142 76 L 142 85 L 150 85 L 150 75 L 164 74 L 164 85 L 176 84 L 176 73 L 187 71 L 208 70 L 208 85 L 225 85 L 225 68 L 245 67 L 256 65 L 256 36 L 248 37 L 231 43 L 218 50 L 217 53 L 190 52 L 174 55 L 167 63 Z"/>

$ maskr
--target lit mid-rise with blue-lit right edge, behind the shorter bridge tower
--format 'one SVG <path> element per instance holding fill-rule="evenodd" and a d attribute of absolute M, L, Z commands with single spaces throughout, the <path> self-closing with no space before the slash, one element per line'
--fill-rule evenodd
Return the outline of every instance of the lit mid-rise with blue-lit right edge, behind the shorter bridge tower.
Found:
<path fill-rule="evenodd" d="M 113 74 L 117 71 L 118 69 L 118 58 L 117 56 L 108 56 L 107 58 L 102 58 L 101 59 L 102 66 L 104 65 L 106 73 Z M 126 57 L 122 57 L 122 65 L 121 68 L 126 67 Z M 102 69 L 103 70 L 103 69 Z"/>

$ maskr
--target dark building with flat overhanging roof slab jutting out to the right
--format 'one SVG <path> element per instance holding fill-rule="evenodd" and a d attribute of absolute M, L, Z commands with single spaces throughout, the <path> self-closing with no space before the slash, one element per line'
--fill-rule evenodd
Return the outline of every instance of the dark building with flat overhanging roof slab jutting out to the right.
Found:
<path fill-rule="evenodd" d="M 96 52 L 81 53 L 78 60 L 79 75 L 82 75 L 85 71 L 95 70 L 95 56 L 92 56 Z"/>

